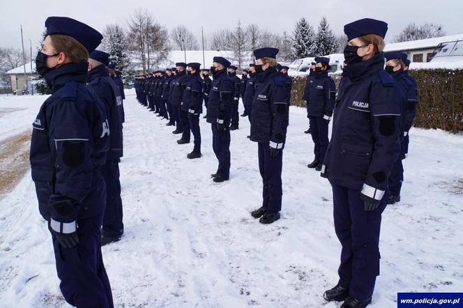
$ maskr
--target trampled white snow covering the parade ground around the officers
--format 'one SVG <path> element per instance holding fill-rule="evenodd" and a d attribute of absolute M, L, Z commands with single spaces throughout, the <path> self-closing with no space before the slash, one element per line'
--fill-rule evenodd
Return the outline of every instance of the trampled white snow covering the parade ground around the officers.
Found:
<path fill-rule="evenodd" d="M 283 162 L 282 219 L 264 226 L 257 144 L 247 119 L 232 132 L 231 178 L 217 162 L 202 119 L 203 157 L 178 145 L 172 127 L 129 91 L 121 162 L 125 236 L 103 247 L 117 307 L 339 307 L 322 294 L 337 282 L 340 244 L 331 187 L 308 169 L 305 110 L 291 107 Z M 30 128 L 44 96 L 1 97 L 0 142 Z M 381 230 L 381 276 L 371 307 L 396 307 L 397 292 L 463 288 L 463 136 L 412 129 L 402 202 Z M 460 180 L 460 182 L 459 182 Z M 38 214 L 30 172 L 0 200 L 0 307 L 68 307 L 52 242 Z"/>

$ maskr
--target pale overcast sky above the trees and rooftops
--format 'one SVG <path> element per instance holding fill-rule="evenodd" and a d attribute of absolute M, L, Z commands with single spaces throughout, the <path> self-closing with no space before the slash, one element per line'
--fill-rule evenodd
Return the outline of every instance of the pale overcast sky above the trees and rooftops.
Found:
<path fill-rule="evenodd" d="M 326 16 L 335 34 L 342 34 L 344 24 L 360 18 L 384 20 L 389 24 L 386 42 L 410 22 L 435 22 L 443 24 L 448 35 L 463 33 L 462 0 L 13 0 L 0 6 L 0 46 L 21 47 L 20 24 L 24 47 L 29 50 L 29 40 L 33 47 L 38 45 L 48 16 L 72 17 L 103 31 L 106 24 L 126 27 L 137 8 L 149 10 L 168 29 L 179 24 L 188 26 L 198 39 L 201 26 L 208 34 L 215 29 L 233 28 L 238 19 L 243 26 L 255 23 L 273 32 L 290 33 L 301 17 L 317 29 L 322 16 Z"/>

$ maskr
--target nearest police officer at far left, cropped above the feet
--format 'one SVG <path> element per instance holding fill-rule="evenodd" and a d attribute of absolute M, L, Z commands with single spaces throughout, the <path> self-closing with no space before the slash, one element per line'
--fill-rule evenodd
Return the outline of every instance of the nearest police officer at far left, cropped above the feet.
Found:
<path fill-rule="evenodd" d="M 52 235 L 66 302 L 114 307 L 100 248 L 109 147 L 103 103 L 85 84 L 89 52 L 103 36 L 68 17 L 48 17 L 36 69 L 52 89 L 33 121 L 31 175 Z"/>

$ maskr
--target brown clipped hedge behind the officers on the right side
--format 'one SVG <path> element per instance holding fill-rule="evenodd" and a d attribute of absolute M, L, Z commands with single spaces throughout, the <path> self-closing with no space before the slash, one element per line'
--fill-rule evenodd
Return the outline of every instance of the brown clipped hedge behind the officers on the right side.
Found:
<path fill-rule="evenodd" d="M 411 70 L 418 84 L 418 105 L 413 126 L 457 133 L 463 131 L 463 70 Z M 339 84 L 340 75 L 333 75 Z M 306 76 L 293 77 L 291 105 L 305 107 Z"/>

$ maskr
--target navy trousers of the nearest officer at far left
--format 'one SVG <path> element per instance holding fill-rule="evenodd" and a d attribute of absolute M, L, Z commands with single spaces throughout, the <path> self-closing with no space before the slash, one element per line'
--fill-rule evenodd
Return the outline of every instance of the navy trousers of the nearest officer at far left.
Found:
<path fill-rule="evenodd" d="M 62 247 L 52 233 L 59 288 L 66 302 L 82 307 L 114 307 L 100 245 L 102 214 L 77 220 L 79 245 Z M 50 223 L 48 226 L 50 230 Z"/>

